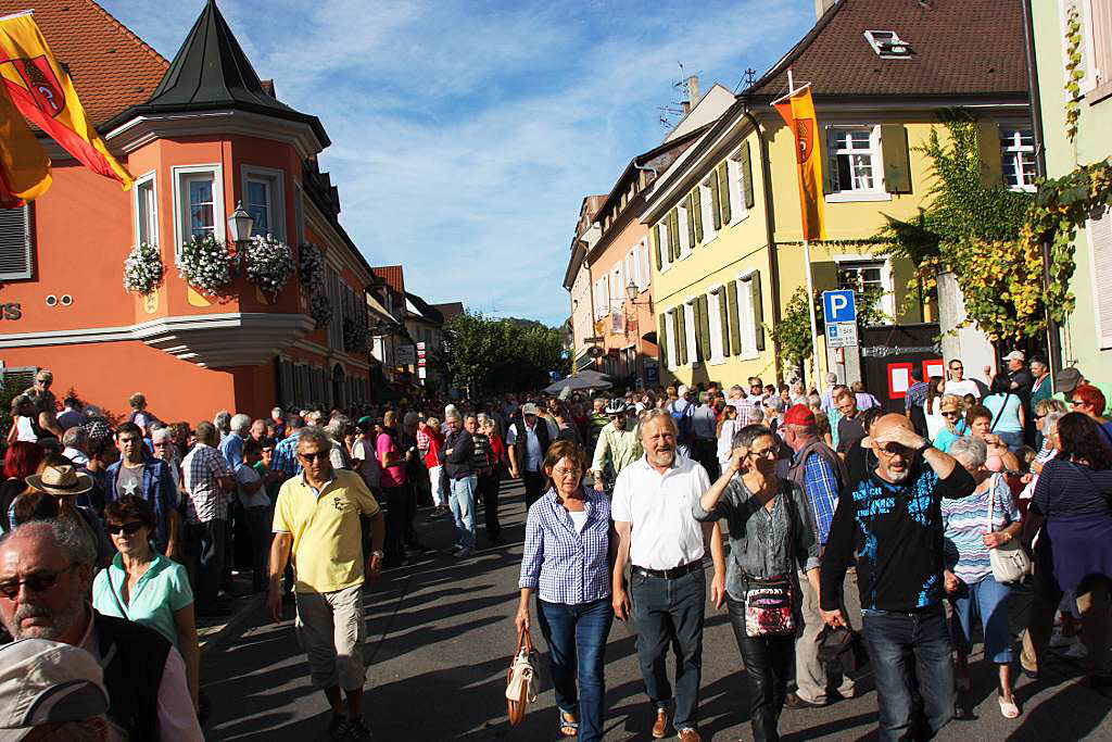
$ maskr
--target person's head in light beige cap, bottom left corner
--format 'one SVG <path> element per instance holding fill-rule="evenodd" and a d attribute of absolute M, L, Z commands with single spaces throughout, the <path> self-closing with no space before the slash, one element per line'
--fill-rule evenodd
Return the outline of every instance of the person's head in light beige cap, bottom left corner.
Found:
<path fill-rule="evenodd" d="M 0 646 L 0 742 L 109 736 L 105 673 L 82 649 L 46 639 Z"/>

